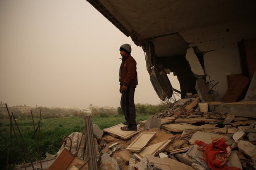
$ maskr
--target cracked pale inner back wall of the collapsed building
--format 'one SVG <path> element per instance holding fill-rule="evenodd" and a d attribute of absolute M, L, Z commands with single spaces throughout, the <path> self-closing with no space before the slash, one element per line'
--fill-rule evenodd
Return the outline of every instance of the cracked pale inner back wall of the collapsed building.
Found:
<path fill-rule="evenodd" d="M 189 43 L 189 47 L 197 50 L 195 53 L 204 54 L 206 81 L 213 81 L 209 89 L 219 82 L 214 88 L 218 94 L 215 100 L 220 100 L 228 90 L 227 75 L 242 73 L 237 44 L 243 39 L 256 37 L 254 21 L 234 21 L 179 33 Z"/>

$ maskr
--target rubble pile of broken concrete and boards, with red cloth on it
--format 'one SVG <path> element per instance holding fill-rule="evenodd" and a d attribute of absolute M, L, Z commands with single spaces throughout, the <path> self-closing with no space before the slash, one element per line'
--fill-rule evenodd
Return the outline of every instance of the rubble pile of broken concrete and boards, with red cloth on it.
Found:
<path fill-rule="evenodd" d="M 139 122 L 138 127 L 143 130 L 126 140 L 118 134 L 103 133 L 93 125 L 98 169 L 256 169 L 256 119 L 208 112 L 203 104 L 199 98 L 180 99 L 152 118 Z M 159 126 L 159 119 L 168 121 Z M 154 137 L 146 141 L 146 137 L 140 139 L 142 134 Z M 83 141 L 83 136 L 74 132 L 69 138 L 75 143 Z M 68 142 L 62 144 L 58 155 L 64 148 L 70 148 L 67 146 L 70 146 Z M 71 149 L 71 153 L 87 160 L 78 148 Z"/>

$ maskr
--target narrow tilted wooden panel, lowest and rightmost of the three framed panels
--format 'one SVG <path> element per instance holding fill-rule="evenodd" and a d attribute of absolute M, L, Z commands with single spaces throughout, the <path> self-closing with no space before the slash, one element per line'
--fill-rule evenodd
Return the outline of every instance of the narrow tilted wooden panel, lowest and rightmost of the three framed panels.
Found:
<path fill-rule="evenodd" d="M 134 153 L 134 156 L 136 158 L 138 158 L 139 160 L 142 160 L 144 158 L 144 156 L 148 155 L 148 154 L 155 156 L 157 151 L 164 149 L 170 142 L 171 142 L 171 140 L 166 140 L 163 142 L 159 142 L 159 143 L 150 145 L 148 147 L 145 147 L 145 149 L 143 149 L 142 151 Z"/>

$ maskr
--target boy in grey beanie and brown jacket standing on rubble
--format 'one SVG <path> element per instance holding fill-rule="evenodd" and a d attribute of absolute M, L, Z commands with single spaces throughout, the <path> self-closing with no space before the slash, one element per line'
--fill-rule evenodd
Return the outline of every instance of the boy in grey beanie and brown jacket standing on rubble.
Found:
<path fill-rule="evenodd" d="M 132 51 L 130 44 L 121 45 L 120 54 L 122 56 L 122 63 L 119 69 L 119 82 L 121 95 L 121 108 L 125 116 L 124 127 L 121 130 L 124 131 L 137 131 L 136 112 L 134 104 L 135 88 L 138 84 L 136 61 L 130 53 Z"/>

